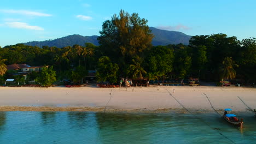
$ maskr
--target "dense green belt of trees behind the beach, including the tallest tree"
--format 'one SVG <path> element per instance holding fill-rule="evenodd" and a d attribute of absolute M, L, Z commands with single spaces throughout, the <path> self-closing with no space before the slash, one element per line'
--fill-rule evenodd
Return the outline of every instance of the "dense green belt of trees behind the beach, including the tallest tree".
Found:
<path fill-rule="evenodd" d="M 66 47 L 16 44 L 0 49 L 0 74 L 4 64 L 53 65 L 57 80 L 79 82 L 87 70 L 97 70 L 98 81 L 118 82 L 119 77 L 150 80 L 199 78 L 256 81 L 256 39 L 238 40 L 226 34 L 195 35 L 189 45 L 153 46 L 147 20 L 121 10 L 103 22 L 98 42 Z M 7 78 L 8 73 L 2 76 Z M 33 75 L 31 75 L 33 77 Z"/>

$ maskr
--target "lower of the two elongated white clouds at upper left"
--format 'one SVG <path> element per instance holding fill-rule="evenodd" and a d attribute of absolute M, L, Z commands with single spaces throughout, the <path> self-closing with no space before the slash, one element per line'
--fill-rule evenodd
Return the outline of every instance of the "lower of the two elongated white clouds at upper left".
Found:
<path fill-rule="evenodd" d="M 44 31 L 42 27 L 38 26 L 30 26 L 28 23 L 25 22 L 5 22 L 5 25 L 12 28 L 20 28 L 20 29 L 31 29 L 36 31 Z"/>

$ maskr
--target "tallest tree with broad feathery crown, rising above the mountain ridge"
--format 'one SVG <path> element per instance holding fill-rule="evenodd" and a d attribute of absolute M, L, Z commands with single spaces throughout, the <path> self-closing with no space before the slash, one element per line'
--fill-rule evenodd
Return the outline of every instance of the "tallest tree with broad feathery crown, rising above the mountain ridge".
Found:
<path fill-rule="evenodd" d="M 147 22 L 138 14 L 130 15 L 124 10 L 115 14 L 112 20 L 103 22 L 98 42 L 104 55 L 119 62 L 121 69 L 131 64 L 136 55 L 143 56 L 144 50 L 152 46 L 153 39 Z"/>

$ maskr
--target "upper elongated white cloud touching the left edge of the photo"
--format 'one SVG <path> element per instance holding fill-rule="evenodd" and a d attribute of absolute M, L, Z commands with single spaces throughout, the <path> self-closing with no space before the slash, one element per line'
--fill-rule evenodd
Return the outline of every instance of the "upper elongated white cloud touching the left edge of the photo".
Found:
<path fill-rule="evenodd" d="M 20 14 L 20 15 L 26 15 L 26 16 L 52 16 L 50 14 L 39 13 L 36 11 L 30 11 L 30 10 L 0 9 L 0 12 L 7 13 L 7 14 Z"/>

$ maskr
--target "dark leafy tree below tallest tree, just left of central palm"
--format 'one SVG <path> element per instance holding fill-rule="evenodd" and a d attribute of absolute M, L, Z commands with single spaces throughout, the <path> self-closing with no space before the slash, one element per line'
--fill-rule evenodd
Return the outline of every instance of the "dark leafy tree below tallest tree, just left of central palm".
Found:
<path fill-rule="evenodd" d="M 96 77 L 98 82 L 109 81 L 110 83 L 117 82 L 118 80 L 118 64 L 112 63 L 107 56 L 98 59 L 98 67 Z"/>

